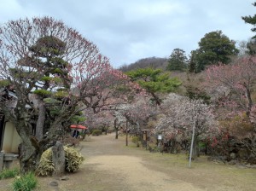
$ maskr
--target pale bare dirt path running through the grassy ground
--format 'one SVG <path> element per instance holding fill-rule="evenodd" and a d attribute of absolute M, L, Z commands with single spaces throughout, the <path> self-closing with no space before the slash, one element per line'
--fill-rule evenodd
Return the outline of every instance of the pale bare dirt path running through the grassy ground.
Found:
<path fill-rule="evenodd" d="M 90 153 L 85 165 L 94 166 L 94 171 L 99 174 L 103 172 L 108 174 L 108 177 L 115 177 L 116 180 L 111 182 L 119 188 L 118 190 L 201 190 L 191 183 L 149 169 L 141 157 L 133 156 L 137 152 L 132 153 L 131 150 L 119 148 L 120 145 L 117 143 L 124 145 L 124 142 L 113 140 L 113 135 L 93 137 L 93 142 L 88 142 L 82 152 L 84 155 Z M 98 147 L 99 145 L 101 146 Z"/>

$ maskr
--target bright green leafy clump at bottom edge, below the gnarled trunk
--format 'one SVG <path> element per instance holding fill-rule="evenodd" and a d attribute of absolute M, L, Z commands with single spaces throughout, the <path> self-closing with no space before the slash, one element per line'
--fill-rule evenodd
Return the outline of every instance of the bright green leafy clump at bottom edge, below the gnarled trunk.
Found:
<path fill-rule="evenodd" d="M 37 188 L 38 180 L 32 172 L 27 173 L 21 177 L 16 177 L 12 187 L 14 191 L 31 191 Z"/>

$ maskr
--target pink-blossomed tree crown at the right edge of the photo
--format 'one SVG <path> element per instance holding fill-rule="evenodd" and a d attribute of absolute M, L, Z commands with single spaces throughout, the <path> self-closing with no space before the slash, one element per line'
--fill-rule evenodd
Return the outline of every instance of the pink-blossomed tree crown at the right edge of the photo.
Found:
<path fill-rule="evenodd" d="M 250 115 L 254 101 L 252 93 L 256 80 L 255 57 L 247 56 L 231 65 L 212 66 L 207 69 L 208 90 L 215 95 L 220 107 L 233 107 L 231 113 L 245 112 Z M 231 114 L 230 113 L 230 114 Z"/>

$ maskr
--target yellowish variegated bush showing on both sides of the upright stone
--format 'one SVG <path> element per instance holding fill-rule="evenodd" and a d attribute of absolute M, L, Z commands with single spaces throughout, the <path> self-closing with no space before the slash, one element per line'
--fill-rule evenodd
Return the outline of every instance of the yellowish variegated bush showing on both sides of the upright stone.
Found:
<path fill-rule="evenodd" d="M 84 161 L 84 157 L 74 148 L 64 147 L 66 171 L 74 172 L 79 170 L 79 165 Z M 52 162 L 52 150 L 49 148 L 44 151 L 40 159 L 36 174 L 38 176 L 47 177 L 55 171 L 55 166 Z"/>

